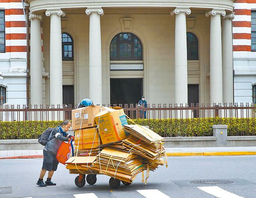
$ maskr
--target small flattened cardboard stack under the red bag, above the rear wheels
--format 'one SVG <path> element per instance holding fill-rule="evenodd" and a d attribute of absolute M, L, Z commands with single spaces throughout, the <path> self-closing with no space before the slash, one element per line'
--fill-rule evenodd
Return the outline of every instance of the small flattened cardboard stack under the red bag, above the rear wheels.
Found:
<path fill-rule="evenodd" d="M 70 174 L 99 174 L 91 169 L 91 164 L 95 160 L 96 156 L 70 157 L 66 161 L 66 168 L 69 169 Z"/>

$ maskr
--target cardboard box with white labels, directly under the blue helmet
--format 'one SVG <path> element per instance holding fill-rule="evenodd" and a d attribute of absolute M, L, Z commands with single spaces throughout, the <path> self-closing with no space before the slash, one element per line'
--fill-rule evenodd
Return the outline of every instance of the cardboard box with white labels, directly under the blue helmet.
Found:
<path fill-rule="evenodd" d="M 104 110 L 102 106 L 87 106 L 72 110 L 72 129 L 95 127 L 94 116 Z"/>

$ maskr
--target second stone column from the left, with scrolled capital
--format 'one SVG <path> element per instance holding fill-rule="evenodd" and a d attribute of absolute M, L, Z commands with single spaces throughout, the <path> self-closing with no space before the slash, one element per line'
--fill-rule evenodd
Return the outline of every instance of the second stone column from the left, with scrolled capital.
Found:
<path fill-rule="evenodd" d="M 51 17 L 50 25 L 50 104 L 62 105 L 62 45 L 60 17 L 65 12 L 49 9 L 45 12 Z"/>

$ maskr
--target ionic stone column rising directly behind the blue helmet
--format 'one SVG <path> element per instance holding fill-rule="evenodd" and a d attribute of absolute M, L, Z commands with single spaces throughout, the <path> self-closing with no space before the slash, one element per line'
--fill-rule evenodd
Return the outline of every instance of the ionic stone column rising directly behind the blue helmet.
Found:
<path fill-rule="evenodd" d="M 103 10 L 93 7 L 86 9 L 85 13 L 90 16 L 89 97 L 94 104 L 102 104 L 100 15 L 103 15 Z"/>

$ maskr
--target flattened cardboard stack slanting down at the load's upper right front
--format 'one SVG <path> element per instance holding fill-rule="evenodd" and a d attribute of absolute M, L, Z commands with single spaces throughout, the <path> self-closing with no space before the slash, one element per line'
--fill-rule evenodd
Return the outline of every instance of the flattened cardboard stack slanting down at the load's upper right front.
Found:
<path fill-rule="evenodd" d="M 130 138 L 123 140 L 123 145 L 127 149 L 132 149 L 132 153 L 148 160 L 159 159 L 165 156 L 162 146 L 162 138 L 150 129 L 139 125 L 124 125 L 124 131 L 131 134 Z"/>

